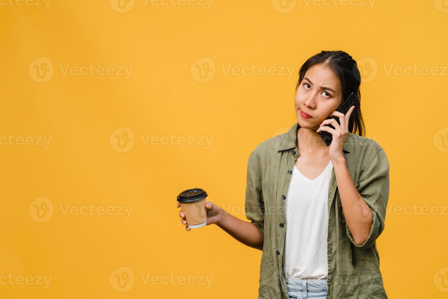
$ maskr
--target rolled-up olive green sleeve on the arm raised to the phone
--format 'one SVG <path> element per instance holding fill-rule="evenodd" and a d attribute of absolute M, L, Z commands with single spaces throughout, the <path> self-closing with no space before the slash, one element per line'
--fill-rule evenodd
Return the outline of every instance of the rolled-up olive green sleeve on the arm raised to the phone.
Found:
<path fill-rule="evenodd" d="M 370 159 L 370 162 L 367 162 L 364 170 L 361 171 L 358 192 L 372 212 L 372 226 L 369 236 L 364 243 L 357 245 L 347 224 L 345 224 L 345 228 L 354 246 L 368 248 L 375 243 L 375 240 L 383 232 L 386 218 L 386 206 L 389 198 L 389 163 L 383 148 L 377 150 L 374 157 Z"/>

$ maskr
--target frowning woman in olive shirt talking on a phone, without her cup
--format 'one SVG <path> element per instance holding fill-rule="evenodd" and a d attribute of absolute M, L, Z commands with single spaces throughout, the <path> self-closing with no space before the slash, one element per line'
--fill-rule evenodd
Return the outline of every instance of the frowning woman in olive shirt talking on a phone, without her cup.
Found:
<path fill-rule="evenodd" d="M 297 122 L 250 154 L 245 204 L 251 222 L 206 203 L 207 225 L 263 251 L 258 298 L 387 299 L 376 238 L 384 230 L 388 159 L 362 136 L 360 108 L 335 111 L 352 92 L 361 100 L 360 78 L 346 52 L 310 57 L 296 86 Z M 326 119 L 333 115 L 340 124 Z M 330 146 L 320 131 L 332 134 Z M 186 224 L 182 211 L 179 216 Z"/>

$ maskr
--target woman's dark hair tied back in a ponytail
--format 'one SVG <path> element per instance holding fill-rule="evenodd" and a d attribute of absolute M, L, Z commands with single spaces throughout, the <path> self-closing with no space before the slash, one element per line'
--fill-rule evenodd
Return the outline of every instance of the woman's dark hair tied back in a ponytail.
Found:
<path fill-rule="evenodd" d="M 339 78 L 342 85 L 342 100 L 345 100 L 352 92 L 354 92 L 357 95 L 359 102 L 361 102 L 361 91 L 359 91 L 361 74 L 359 73 L 358 65 L 352 56 L 344 51 L 322 51 L 319 54 L 308 58 L 300 68 L 296 93 L 300 83 L 305 77 L 306 71 L 311 66 L 317 64 L 328 66 Z M 352 116 L 349 120 L 349 132 L 352 132 L 353 134 L 358 132 L 358 135 L 364 136 L 365 131 L 366 127 L 362 120 L 360 107 L 352 112 Z"/>

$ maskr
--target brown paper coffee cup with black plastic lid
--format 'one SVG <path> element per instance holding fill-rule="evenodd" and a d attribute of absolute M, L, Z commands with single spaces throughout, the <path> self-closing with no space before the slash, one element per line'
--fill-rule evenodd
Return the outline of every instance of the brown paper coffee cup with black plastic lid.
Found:
<path fill-rule="evenodd" d="M 181 204 L 182 212 L 185 214 L 187 227 L 196 229 L 207 224 L 207 192 L 200 188 L 188 189 L 177 196 Z"/>

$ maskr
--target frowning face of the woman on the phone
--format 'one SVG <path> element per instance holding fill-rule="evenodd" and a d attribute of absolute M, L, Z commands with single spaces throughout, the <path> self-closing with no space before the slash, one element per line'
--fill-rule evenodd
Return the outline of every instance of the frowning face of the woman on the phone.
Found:
<path fill-rule="evenodd" d="M 323 64 L 311 66 L 297 88 L 294 107 L 299 125 L 306 129 L 319 129 L 319 125 L 339 108 L 342 86 L 333 71 Z M 302 113 L 311 117 L 302 116 Z"/>

